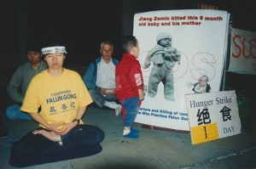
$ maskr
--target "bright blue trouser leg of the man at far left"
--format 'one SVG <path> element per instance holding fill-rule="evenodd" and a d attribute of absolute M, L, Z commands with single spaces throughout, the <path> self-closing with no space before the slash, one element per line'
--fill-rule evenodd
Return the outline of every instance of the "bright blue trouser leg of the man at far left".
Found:
<path fill-rule="evenodd" d="M 7 108 L 6 115 L 9 120 L 15 121 L 18 119 L 32 120 L 31 116 L 25 112 L 20 111 L 20 105 L 14 104 Z"/>

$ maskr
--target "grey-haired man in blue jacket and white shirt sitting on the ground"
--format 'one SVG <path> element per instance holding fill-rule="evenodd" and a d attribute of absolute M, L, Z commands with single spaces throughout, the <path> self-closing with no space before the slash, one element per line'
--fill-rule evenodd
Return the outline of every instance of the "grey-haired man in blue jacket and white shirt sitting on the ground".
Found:
<path fill-rule="evenodd" d="M 90 97 L 99 107 L 105 105 L 119 115 L 122 106 L 115 102 L 115 66 L 119 61 L 112 58 L 113 44 L 109 41 L 102 42 L 100 52 L 102 57 L 90 63 L 83 81 Z"/>

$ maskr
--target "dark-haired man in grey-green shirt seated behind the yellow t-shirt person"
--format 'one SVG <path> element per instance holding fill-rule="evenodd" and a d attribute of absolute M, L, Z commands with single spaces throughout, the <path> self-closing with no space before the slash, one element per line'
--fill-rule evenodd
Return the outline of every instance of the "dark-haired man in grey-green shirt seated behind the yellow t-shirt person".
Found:
<path fill-rule="evenodd" d="M 11 121 L 17 119 L 32 120 L 27 113 L 20 111 L 20 106 L 32 77 L 47 68 L 47 65 L 41 59 L 43 54 L 41 53 L 39 45 L 28 43 L 26 45 L 26 56 L 29 62 L 20 65 L 20 67 L 15 70 L 15 74 L 12 76 L 9 85 L 7 86 L 7 93 L 15 102 L 15 104 L 9 106 L 6 110 L 6 115 Z M 20 88 L 21 93 L 19 92 Z"/>

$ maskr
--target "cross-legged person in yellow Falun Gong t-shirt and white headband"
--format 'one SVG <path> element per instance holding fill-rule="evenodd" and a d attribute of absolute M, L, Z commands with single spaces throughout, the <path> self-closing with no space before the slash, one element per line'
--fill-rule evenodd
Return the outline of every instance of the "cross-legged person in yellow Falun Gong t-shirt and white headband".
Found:
<path fill-rule="evenodd" d="M 32 78 L 20 108 L 39 127 L 13 144 L 11 166 L 69 160 L 102 150 L 102 129 L 81 120 L 86 106 L 92 103 L 90 94 L 77 72 L 62 67 L 66 48 L 55 43 L 42 48 L 42 53 L 48 69 Z"/>

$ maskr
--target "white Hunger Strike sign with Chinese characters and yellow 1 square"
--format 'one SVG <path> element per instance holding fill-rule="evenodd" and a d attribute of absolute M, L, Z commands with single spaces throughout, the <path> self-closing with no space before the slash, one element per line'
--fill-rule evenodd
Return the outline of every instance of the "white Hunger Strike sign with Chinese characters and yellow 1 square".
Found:
<path fill-rule="evenodd" d="M 241 133 L 235 91 L 186 94 L 192 144 Z"/>

